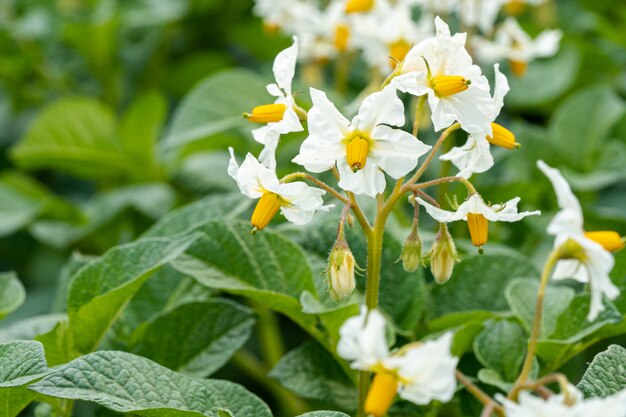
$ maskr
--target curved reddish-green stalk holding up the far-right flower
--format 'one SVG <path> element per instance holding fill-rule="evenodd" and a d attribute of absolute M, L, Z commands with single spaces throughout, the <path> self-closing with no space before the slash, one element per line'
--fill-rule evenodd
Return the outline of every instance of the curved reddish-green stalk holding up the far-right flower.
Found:
<path fill-rule="evenodd" d="M 524 365 L 522 366 L 520 375 L 509 393 L 508 398 L 511 400 L 517 400 L 517 394 L 526 385 L 526 381 L 528 381 L 530 376 L 533 360 L 535 358 L 535 352 L 537 351 L 537 339 L 539 339 L 539 332 L 541 331 L 541 317 L 543 315 L 543 300 L 545 297 L 546 287 L 548 286 L 548 281 L 550 280 L 550 273 L 560 258 L 561 251 L 559 249 L 553 250 L 543 267 L 541 282 L 539 283 L 539 290 L 537 291 L 537 304 L 535 305 L 533 328 L 530 333 L 530 339 L 528 340 L 528 350 L 526 352 L 526 358 L 524 359 Z"/>

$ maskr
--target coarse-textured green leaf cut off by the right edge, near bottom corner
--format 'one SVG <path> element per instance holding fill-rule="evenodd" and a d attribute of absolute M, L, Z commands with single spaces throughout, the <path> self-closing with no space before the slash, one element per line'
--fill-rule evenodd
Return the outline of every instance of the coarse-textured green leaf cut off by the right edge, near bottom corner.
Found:
<path fill-rule="evenodd" d="M 611 345 L 600 352 L 578 383 L 585 397 L 605 398 L 626 388 L 626 349 Z"/>

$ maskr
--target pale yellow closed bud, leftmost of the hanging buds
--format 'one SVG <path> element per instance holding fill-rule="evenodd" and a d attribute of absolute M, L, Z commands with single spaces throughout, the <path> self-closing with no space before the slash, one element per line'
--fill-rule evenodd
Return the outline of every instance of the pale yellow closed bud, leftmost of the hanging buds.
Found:
<path fill-rule="evenodd" d="M 328 256 L 328 287 L 330 296 L 341 301 L 354 291 L 354 256 L 348 243 L 339 238 Z"/>

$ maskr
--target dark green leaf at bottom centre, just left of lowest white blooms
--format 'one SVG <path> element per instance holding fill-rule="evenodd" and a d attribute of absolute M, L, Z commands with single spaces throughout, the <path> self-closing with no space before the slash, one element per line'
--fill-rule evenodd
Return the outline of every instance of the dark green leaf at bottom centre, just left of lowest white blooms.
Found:
<path fill-rule="evenodd" d="M 356 410 L 356 388 L 330 353 L 307 342 L 288 352 L 269 374 L 303 398 Z"/>

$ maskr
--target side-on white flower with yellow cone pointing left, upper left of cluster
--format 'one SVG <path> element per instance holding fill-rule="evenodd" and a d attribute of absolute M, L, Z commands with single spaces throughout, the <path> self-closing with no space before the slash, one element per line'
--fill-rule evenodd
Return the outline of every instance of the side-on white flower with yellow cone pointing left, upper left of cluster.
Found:
<path fill-rule="evenodd" d="M 274 104 L 256 107 L 252 114 L 248 115 L 251 121 L 268 122 L 266 126 L 254 129 L 252 136 L 254 140 L 265 145 L 259 159 L 271 169 L 276 167 L 274 155 L 280 135 L 303 130 L 295 111 L 296 103 L 291 91 L 297 58 L 298 38 L 294 36 L 293 45 L 279 52 L 274 60 L 272 70 L 276 83 L 267 85 L 268 93 L 276 97 Z"/>

